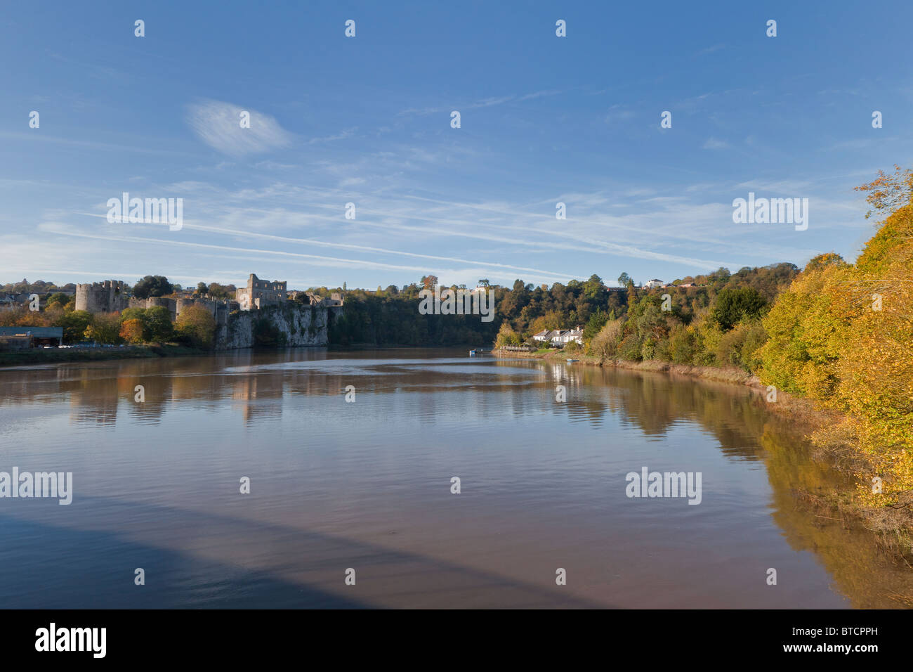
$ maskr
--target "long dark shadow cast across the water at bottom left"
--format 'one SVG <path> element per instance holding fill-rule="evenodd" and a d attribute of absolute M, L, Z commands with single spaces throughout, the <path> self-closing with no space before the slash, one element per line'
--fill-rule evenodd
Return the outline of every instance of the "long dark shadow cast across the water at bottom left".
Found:
<path fill-rule="evenodd" d="M 606 606 L 504 575 L 310 530 L 103 497 L 83 497 L 81 504 L 80 519 L 110 529 L 0 517 L 3 607 Z M 161 522 L 175 520 L 181 521 L 180 528 Z M 144 542 L 132 541 L 133 536 Z M 356 571 L 354 586 L 344 585 L 350 567 Z M 28 581 L 23 581 L 23 568 L 29 568 Z M 136 568 L 145 571 L 143 586 L 133 582 Z M 338 590 L 327 590 L 334 585 Z"/>

